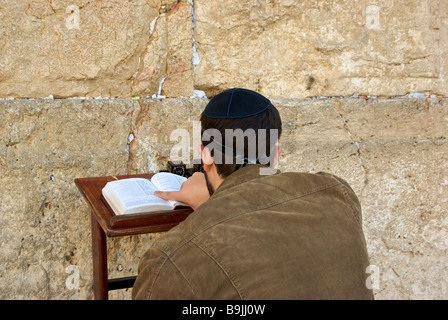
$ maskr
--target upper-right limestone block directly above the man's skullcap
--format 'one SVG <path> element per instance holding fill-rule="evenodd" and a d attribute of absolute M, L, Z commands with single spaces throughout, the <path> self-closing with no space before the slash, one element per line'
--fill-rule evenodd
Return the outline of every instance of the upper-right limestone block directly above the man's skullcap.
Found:
<path fill-rule="evenodd" d="M 195 87 L 276 98 L 446 94 L 447 11 L 443 0 L 197 0 Z"/>

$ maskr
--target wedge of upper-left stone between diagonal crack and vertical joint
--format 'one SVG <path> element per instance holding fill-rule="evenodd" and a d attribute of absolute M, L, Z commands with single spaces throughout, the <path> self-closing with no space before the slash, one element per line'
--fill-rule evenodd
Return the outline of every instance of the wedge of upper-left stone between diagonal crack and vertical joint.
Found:
<path fill-rule="evenodd" d="M 191 29 L 189 3 L 161 5 L 160 14 L 151 22 L 151 36 L 133 83 L 133 96 L 193 95 Z"/>

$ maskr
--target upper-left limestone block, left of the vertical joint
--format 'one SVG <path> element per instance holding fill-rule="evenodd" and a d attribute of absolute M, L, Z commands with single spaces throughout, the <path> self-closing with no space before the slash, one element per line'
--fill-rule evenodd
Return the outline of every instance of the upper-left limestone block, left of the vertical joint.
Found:
<path fill-rule="evenodd" d="M 153 0 L 2 0 L 0 97 L 146 96 L 158 93 L 163 77 L 165 95 L 191 96 L 189 8 Z"/>

